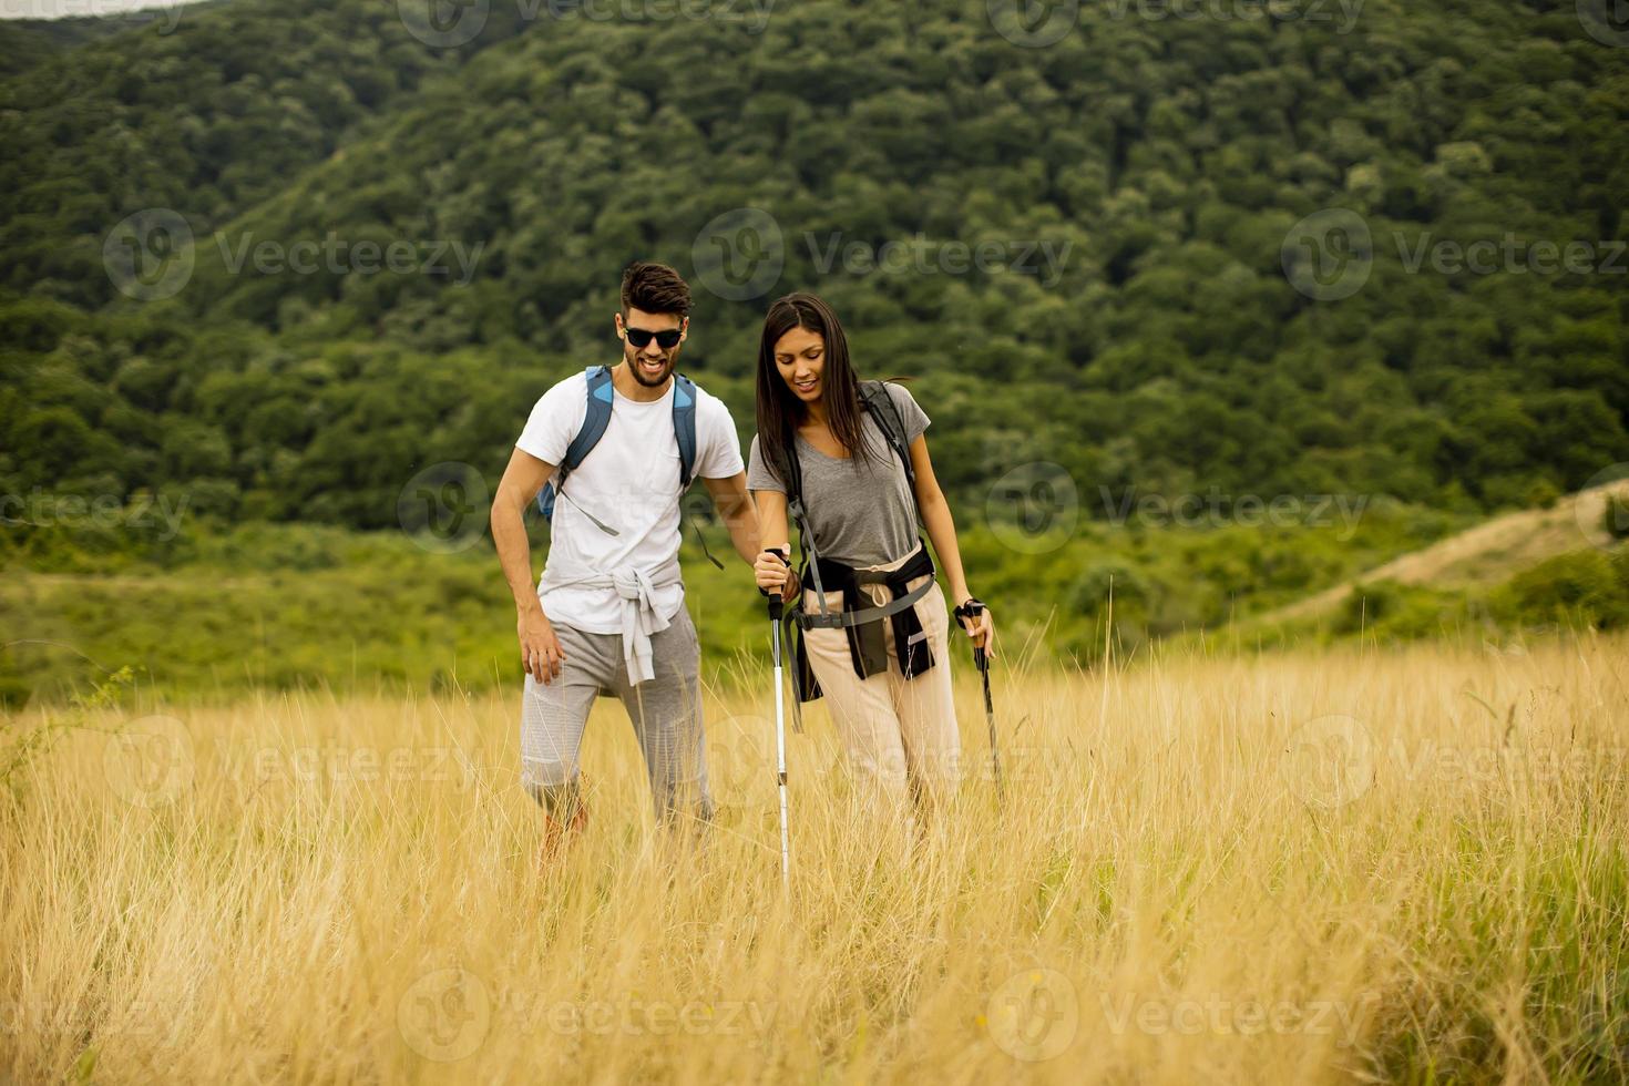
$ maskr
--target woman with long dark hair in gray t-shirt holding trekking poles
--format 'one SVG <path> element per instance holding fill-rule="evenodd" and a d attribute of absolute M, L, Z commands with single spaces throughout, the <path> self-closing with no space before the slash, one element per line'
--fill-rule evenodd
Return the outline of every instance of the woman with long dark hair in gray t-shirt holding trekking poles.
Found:
<path fill-rule="evenodd" d="M 958 619 L 995 656 L 995 625 L 968 591 L 956 526 L 933 479 L 927 425 L 902 386 L 860 383 L 842 326 L 819 298 L 795 293 L 769 308 L 746 472 L 764 545 L 754 573 L 761 589 L 787 601 L 801 588 L 800 658 L 828 698 L 850 765 L 891 804 L 907 793 L 922 806 L 943 803 L 961 749 L 950 614 L 917 536 L 919 516 Z M 788 493 L 801 498 L 801 506 L 790 501 L 790 519 L 805 532 L 798 573 L 790 568 Z M 845 617 L 854 624 L 844 625 Z"/>

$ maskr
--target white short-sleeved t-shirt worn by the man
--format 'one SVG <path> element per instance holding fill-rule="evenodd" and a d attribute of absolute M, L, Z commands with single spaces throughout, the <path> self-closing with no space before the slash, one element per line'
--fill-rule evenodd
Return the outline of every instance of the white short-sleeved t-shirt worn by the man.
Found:
<path fill-rule="evenodd" d="M 673 433 L 673 386 L 661 399 L 642 404 L 614 392 L 611 422 L 598 444 L 555 495 L 544 580 L 538 583 L 549 622 L 590 633 L 622 630 L 622 601 L 614 588 L 549 586 L 551 567 L 609 573 L 624 565 L 660 570 L 679 554 L 679 440 Z M 515 446 L 546 464 L 560 464 L 565 448 L 588 415 L 588 376 L 582 371 L 544 392 L 531 409 Z M 696 464 L 692 479 L 730 479 L 744 471 L 741 443 L 730 409 L 717 396 L 696 389 Z M 577 506 L 617 529 L 609 536 Z M 559 571 L 559 570 L 557 570 Z M 655 591 L 663 619 L 684 606 L 684 585 Z"/>

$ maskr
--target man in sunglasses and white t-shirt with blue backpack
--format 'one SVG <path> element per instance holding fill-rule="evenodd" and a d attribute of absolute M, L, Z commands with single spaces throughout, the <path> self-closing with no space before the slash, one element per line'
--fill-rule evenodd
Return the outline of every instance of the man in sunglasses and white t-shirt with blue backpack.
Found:
<path fill-rule="evenodd" d="M 578 747 L 595 697 L 621 698 L 645 755 L 658 817 L 686 806 L 712 817 L 702 736 L 696 627 L 679 576 L 681 454 L 674 368 L 689 335 L 691 291 L 671 267 L 622 274 L 611 368 L 611 418 L 555 490 L 549 557 L 536 589 L 525 511 L 583 428 L 590 378 L 542 394 L 515 443 L 492 503 L 492 539 L 518 612 L 526 690 L 521 783 L 544 808 L 544 858 L 578 830 L 586 806 Z M 741 560 L 757 554 L 757 519 L 730 410 L 696 389 L 692 475 L 712 495 Z"/>

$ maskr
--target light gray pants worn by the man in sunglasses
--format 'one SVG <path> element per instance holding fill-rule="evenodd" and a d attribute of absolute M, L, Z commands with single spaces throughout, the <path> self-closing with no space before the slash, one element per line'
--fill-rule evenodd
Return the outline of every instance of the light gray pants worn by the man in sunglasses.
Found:
<path fill-rule="evenodd" d="M 634 725 L 658 817 L 694 811 L 712 817 L 707 793 L 707 749 L 697 668 L 700 645 L 689 611 L 679 607 L 666 630 L 650 637 L 655 677 L 627 681 L 621 633 L 588 633 L 554 625 L 565 663 L 549 682 L 526 676 L 520 715 L 521 785 L 551 812 L 570 816 L 577 806 L 578 751 L 583 725 L 599 695 L 621 698 Z"/>

